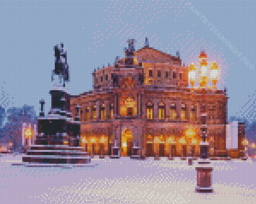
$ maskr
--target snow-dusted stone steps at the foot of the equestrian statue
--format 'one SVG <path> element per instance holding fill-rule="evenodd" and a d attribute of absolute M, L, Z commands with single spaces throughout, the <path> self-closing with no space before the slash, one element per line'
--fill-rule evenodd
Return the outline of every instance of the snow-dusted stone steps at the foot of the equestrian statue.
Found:
<path fill-rule="evenodd" d="M 91 157 L 83 147 L 68 145 L 33 145 L 22 162 L 37 164 L 88 164 Z"/>

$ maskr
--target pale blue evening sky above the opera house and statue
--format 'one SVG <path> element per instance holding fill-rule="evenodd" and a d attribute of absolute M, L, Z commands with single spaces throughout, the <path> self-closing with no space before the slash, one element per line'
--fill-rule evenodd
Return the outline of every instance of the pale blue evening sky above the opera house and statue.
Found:
<path fill-rule="evenodd" d="M 4 87 L 10 98 L 14 97 L 15 107 L 32 105 L 39 114 L 39 100 L 44 98 L 48 112 L 49 90 L 55 83 L 51 82 L 53 46 L 60 42 L 67 51 L 70 70 L 70 83 L 66 88 L 72 95 L 78 95 L 93 89 L 92 72 L 98 66 L 114 63 L 117 55 L 124 57 L 126 39 L 137 38 L 135 48 L 139 49 L 143 47 L 146 36 L 155 49 L 169 51 L 169 54 L 179 50 L 185 63 L 189 61 L 188 56 L 184 56 L 187 48 L 197 44 L 196 49 L 205 41 L 204 45 L 214 46 L 211 51 L 222 53 L 221 59 L 226 60 L 224 63 L 229 68 L 225 79 L 228 116 L 234 116 L 247 107 L 250 108 L 246 113 L 253 112 L 253 99 L 256 99 L 255 95 L 252 96 L 256 90 L 254 1 L 190 0 L 192 5 L 186 5 L 189 2 L 186 0 L 138 2 L 0 0 L 0 87 Z M 191 6 L 204 17 L 194 13 Z M 237 48 L 240 57 L 213 34 L 204 18 Z"/>

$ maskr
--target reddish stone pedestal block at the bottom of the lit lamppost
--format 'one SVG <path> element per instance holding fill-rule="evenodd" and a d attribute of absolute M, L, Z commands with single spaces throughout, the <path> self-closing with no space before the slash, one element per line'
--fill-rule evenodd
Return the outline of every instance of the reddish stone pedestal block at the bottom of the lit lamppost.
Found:
<path fill-rule="evenodd" d="M 197 170 L 197 186 L 195 191 L 197 193 L 212 193 L 211 187 L 211 172 L 213 167 L 196 167 Z"/>

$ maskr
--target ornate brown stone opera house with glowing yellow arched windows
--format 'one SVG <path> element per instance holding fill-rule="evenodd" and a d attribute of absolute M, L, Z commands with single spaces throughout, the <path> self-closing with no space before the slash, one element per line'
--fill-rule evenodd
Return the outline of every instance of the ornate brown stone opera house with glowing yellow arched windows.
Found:
<path fill-rule="evenodd" d="M 95 70 L 94 90 L 70 98 L 80 146 L 101 156 L 198 157 L 205 135 L 209 156 L 226 156 L 226 91 L 189 88 L 188 70 L 148 46 Z"/>

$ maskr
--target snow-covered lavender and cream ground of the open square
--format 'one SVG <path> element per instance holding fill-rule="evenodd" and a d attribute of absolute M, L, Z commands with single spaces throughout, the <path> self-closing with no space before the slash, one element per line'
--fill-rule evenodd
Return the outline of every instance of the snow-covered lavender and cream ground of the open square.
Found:
<path fill-rule="evenodd" d="M 0 203 L 256 203 L 256 162 L 211 161 L 213 193 L 195 193 L 194 161 L 99 159 L 81 166 L 28 167 L 0 157 Z"/>

